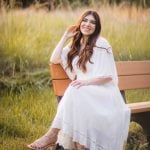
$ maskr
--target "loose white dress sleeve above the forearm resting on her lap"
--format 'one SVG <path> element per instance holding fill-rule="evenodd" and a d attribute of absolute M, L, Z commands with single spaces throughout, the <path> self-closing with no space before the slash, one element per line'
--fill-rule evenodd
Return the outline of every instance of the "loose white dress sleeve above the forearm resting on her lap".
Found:
<path fill-rule="evenodd" d="M 95 77 L 111 77 L 115 84 L 118 84 L 118 76 L 112 48 L 98 48 L 95 50 L 94 70 Z"/>

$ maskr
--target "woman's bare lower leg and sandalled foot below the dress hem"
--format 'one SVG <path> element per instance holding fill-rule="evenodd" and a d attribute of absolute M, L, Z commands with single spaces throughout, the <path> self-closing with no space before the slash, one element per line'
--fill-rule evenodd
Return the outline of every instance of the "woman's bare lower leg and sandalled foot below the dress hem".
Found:
<path fill-rule="evenodd" d="M 28 145 L 30 149 L 44 149 L 53 146 L 57 141 L 59 129 L 50 128 L 42 137 Z"/>

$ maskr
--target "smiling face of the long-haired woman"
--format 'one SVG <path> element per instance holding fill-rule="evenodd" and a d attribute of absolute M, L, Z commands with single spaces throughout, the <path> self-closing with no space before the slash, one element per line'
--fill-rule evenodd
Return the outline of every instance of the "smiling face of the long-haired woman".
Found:
<path fill-rule="evenodd" d="M 90 36 L 96 28 L 96 20 L 93 15 L 87 15 L 80 24 L 80 31 L 84 36 Z"/>

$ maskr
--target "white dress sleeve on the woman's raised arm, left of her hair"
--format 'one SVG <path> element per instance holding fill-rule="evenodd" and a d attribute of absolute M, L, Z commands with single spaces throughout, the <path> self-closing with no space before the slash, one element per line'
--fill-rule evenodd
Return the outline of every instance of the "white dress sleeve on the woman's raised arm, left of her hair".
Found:
<path fill-rule="evenodd" d="M 61 66 L 65 70 L 69 79 L 74 80 L 76 77 L 74 70 L 71 72 L 71 70 L 69 68 L 67 68 L 67 54 L 68 54 L 69 50 L 70 50 L 69 45 L 67 45 L 66 47 L 63 48 L 62 53 L 61 53 Z"/>

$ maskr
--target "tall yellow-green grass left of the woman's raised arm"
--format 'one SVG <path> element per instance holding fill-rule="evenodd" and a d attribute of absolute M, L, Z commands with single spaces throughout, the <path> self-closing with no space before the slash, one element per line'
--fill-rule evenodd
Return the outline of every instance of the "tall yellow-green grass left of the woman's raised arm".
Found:
<path fill-rule="evenodd" d="M 57 21 L 58 20 L 58 21 Z M 50 52 L 64 29 L 65 20 L 55 13 L 13 11 L 0 20 L 1 67 L 35 70 L 48 64 Z"/>

